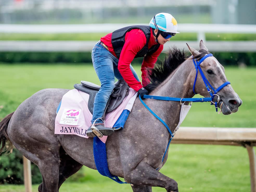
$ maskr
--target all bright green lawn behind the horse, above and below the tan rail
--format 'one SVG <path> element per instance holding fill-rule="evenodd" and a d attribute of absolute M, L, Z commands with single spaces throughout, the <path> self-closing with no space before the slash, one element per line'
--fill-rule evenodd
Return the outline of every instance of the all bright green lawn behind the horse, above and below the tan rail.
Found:
<path fill-rule="evenodd" d="M 140 67 L 134 66 L 140 76 Z M 72 89 L 87 80 L 99 84 L 89 65 L 0 64 L 0 119 L 14 111 L 33 93 L 43 88 Z M 256 127 L 256 68 L 225 67 L 227 79 L 243 100 L 237 113 L 217 114 L 209 103 L 193 103 L 182 126 Z M 180 191 L 250 191 L 247 151 L 239 146 L 172 144 L 167 163 L 160 170 L 178 182 Z M 85 176 L 79 176 L 79 174 Z M 75 182 L 71 182 L 75 180 Z M 38 185 L 33 185 L 37 191 Z M 23 185 L 1 185 L 0 192 L 25 192 Z M 60 188 L 68 191 L 132 191 L 129 184 L 117 184 L 86 167 Z M 153 188 L 154 192 L 166 191 Z"/>

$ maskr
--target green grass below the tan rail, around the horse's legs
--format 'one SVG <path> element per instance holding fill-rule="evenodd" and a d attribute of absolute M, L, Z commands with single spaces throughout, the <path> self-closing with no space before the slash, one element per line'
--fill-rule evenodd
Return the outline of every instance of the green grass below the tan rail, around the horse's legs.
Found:
<path fill-rule="evenodd" d="M 118 184 L 96 170 L 83 167 L 81 172 L 86 176 L 76 182 L 68 179 L 60 192 L 132 191 L 129 184 Z M 160 172 L 175 179 L 179 191 L 250 191 L 248 155 L 242 147 L 173 144 Z M 33 185 L 33 192 L 37 187 L 38 184 Z M 153 192 L 164 191 L 164 188 L 153 187 Z M 25 192 L 25 189 L 23 185 L 2 185 L 0 192 Z"/>

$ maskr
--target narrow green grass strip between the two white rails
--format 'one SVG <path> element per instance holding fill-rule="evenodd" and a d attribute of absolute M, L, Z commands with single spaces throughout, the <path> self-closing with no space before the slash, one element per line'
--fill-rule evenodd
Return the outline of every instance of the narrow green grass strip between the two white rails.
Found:
<path fill-rule="evenodd" d="M 76 34 L 22 34 L 0 33 L 1 41 L 98 41 L 106 33 L 76 33 Z M 171 38 L 171 41 L 196 41 L 196 33 L 181 33 Z M 256 41 L 255 34 L 206 33 L 209 41 Z"/>

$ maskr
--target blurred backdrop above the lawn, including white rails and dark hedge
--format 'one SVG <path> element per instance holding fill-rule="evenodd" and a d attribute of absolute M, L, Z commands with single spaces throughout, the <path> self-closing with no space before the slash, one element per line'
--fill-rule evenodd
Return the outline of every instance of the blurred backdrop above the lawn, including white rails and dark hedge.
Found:
<path fill-rule="evenodd" d="M 202 39 L 223 65 L 255 66 L 255 10 L 254 0 L 0 0 L 0 62 L 88 63 L 100 37 L 168 12 L 181 34 L 164 51 Z"/>

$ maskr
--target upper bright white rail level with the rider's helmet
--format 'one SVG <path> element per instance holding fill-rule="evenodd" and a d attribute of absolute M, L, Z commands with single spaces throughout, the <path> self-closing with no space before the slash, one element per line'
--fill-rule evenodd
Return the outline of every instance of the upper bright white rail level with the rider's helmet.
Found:
<path fill-rule="evenodd" d="M 109 33 L 128 25 L 148 23 L 101 23 L 101 24 L 0 24 L 0 33 Z M 178 31 L 189 33 L 256 33 L 256 25 L 242 24 L 178 24 Z"/>

